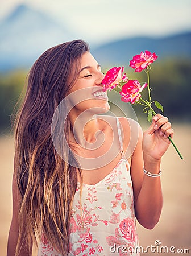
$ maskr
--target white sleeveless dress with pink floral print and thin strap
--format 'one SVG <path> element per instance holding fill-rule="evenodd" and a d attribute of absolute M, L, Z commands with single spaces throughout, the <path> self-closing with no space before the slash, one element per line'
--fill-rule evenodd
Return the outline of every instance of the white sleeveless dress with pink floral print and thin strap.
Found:
<path fill-rule="evenodd" d="M 83 185 L 82 209 L 79 188 L 74 196 L 69 256 L 139 255 L 130 164 L 123 155 L 118 118 L 117 126 L 122 158 L 103 180 Z M 57 255 L 42 236 L 38 256 Z"/>

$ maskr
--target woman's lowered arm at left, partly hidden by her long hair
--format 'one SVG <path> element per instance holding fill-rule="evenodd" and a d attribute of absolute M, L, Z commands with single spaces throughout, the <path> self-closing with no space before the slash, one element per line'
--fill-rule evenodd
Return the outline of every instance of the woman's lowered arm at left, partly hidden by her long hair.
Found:
<path fill-rule="evenodd" d="M 15 256 L 16 244 L 19 237 L 19 225 L 18 225 L 18 213 L 19 213 L 19 202 L 21 200 L 18 187 L 16 185 L 15 174 L 13 175 L 13 216 L 11 221 L 11 226 L 9 230 L 9 238 L 7 245 L 7 256 Z M 24 237 L 23 237 L 24 241 Z M 19 256 L 30 256 L 32 251 L 29 251 L 26 243 L 23 243 L 22 248 L 20 249 Z"/>

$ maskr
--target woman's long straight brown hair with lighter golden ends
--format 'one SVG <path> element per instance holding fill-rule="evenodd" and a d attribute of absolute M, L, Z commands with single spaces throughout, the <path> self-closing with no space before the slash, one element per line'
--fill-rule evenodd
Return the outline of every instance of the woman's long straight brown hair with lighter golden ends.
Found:
<path fill-rule="evenodd" d="M 82 181 L 82 174 L 80 167 L 74 168 L 57 154 L 51 122 L 77 80 L 86 51 L 89 46 L 84 40 L 52 47 L 36 60 L 28 75 L 26 95 L 15 121 L 14 172 L 21 195 L 16 255 L 22 237 L 31 250 L 32 243 L 38 245 L 41 232 L 59 253 L 68 254 L 69 219 L 77 176 Z M 64 133 L 69 141 L 69 118 L 66 122 Z M 74 158 L 69 150 L 65 156 Z"/>

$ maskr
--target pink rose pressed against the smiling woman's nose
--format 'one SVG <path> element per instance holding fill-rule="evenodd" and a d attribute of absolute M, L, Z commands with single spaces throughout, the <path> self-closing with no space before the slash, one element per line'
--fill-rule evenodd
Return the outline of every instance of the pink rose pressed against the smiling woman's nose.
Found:
<path fill-rule="evenodd" d="M 123 74 L 124 67 L 114 67 L 107 71 L 104 79 L 102 80 L 103 90 L 111 90 L 115 88 L 119 82 L 126 82 L 128 77 Z"/>

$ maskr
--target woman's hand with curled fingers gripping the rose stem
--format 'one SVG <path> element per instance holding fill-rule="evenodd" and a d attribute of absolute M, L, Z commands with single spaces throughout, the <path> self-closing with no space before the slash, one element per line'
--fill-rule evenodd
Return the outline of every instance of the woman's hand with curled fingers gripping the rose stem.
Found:
<path fill-rule="evenodd" d="M 173 132 L 168 118 L 156 114 L 151 126 L 143 133 L 143 155 L 152 160 L 160 160 L 171 143 L 168 137 L 172 138 Z"/>

